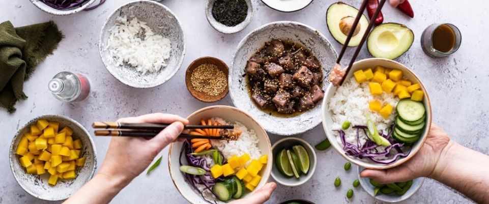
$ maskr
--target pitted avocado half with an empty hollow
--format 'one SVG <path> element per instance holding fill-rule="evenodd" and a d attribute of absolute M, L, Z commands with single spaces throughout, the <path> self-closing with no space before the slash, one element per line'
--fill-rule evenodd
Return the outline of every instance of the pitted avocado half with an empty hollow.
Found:
<path fill-rule="evenodd" d="M 368 52 L 372 56 L 393 60 L 411 48 L 414 33 L 406 25 L 383 23 L 370 32 Z"/>

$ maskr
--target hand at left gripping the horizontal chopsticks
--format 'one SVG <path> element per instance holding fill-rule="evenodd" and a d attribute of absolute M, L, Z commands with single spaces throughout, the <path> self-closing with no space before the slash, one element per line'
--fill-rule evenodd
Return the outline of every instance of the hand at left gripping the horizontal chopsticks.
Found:
<path fill-rule="evenodd" d="M 105 159 L 98 174 L 120 181 L 126 186 L 143 170 L 166 145 L 173 142 L 183 131 L 188 120 L 178 115 L 152 113 L 119 119 L 124 123 L 171 123 L 155 137 L 112 137 Z"/>

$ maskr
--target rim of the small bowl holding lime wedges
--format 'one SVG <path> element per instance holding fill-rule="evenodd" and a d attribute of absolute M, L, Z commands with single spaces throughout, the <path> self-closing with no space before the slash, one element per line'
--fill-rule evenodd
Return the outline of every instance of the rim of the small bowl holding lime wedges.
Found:
<path fill-rule="evenodd" d="M 307 172 L 307 175 L 305 176 L 305 179 L 303 181 L 297 181 L 296 183 L 294 183 L 292 185 L 283 183 L 280 179 L 277 179 L 277 177 L 275 176 L 275 174 L 273 173 L 273 171 L 271 171 L 271 174 L 272 174 L 273 180 L 275 180 L 277 183 L 282 184 L 284 186 L 296 187 L 296 186 L 300 186 L 302 184 L 307 183 L 307 181 L 309 181 L 312 178 L 312 176 L 314 175 L 314 172 L 316 171 L 316 167 L 318 166 L 318 157 L 316 155 L 316 152 L 314 151 L 314 148 L 312 148 L 312 146 L 309 144 L 309 142 L 307 142 L 306 140 L 304 140 L 302 138 L 299 138 L 299 137 L 284 137 L 282 139 L 279 139 L 278 141 L 276 141 L 275 143 L 273 143 L 273 145 L 272 145 L 272 153 L 273 153 L 273 150 L 277 147 L 277 145 L 279 143 L 282 143 L 282 142 L 285 142 L 285 141 L 289 141 L 289 140 L 299 141 L 299 142 L 305 143 L 306 144 L 306 147 L 304 147 L 304 148 L 306 150 L 308 149 L 308 150 L 310 150 L 310 152 L 312 152 L 312 160 L 314 161 L 314 165 L 309 166 L 309 172 Z M 273 155 L 273 156 L 275 156 L 275 155 Z M 311 163 L 310 160 L 311 160 L 311 155 L 309 155 L 309 164 Z M 273 163 L 273 165 L 275 165 L 275 163 Z M 291 180 L 294 180 L 296 178 L 295 177 L 291 177 L 290 179 Z"/>

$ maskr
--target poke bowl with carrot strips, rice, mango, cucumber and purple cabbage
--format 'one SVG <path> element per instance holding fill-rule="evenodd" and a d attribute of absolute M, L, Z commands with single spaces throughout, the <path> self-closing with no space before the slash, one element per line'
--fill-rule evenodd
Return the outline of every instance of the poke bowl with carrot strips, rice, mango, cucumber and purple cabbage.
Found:
<path fill-rule="evenodd" d="M 170 177 L 190 203 L 225 203 L 244 198 L 267 183 L 272 148 L 266 131 L 246 112 L 231 106 L 209 106 L 190 114 L 192 125 L 232 125 L 234 129 L 195 129 L 192 135 L 236 137 L 186 139 L 168 150 Z"/>

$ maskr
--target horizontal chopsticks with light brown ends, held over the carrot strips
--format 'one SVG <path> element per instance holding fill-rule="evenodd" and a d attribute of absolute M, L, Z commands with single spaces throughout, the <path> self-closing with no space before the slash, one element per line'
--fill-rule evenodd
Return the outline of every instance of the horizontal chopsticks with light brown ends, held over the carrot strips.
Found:
<path fill-rule="evenodd" d="M 119 122 L 94 122 L 95 136 L 122 136 L 122 137 L 154 137 L 169 124 L 156 123 L 119 123 Z M 186 125 L 184 129 L 234 129 L 232 125 Z M 226 139 L 225 136 L 204 136 L 180 134 L 179 138 L 185 139 Z"/>

